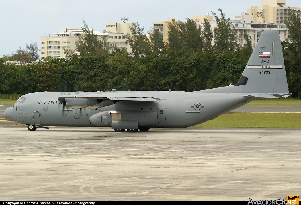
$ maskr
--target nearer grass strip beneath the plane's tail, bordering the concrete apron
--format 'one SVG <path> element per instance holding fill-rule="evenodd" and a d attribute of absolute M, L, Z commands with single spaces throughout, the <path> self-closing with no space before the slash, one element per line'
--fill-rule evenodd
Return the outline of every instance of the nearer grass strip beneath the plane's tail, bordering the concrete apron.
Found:
<path fill-rule="evenodd" d="M 301 113 L 232 113 L 195 127 L 301 128 Z"/>

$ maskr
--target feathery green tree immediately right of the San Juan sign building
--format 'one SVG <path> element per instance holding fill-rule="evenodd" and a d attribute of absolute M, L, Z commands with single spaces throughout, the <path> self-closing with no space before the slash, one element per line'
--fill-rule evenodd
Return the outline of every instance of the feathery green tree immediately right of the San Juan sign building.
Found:
<path fill-rule="evenodd" d="M 151 54 L 151 44 L 144 33 L 144 27 L 140 28 L 139 23 L 132 23 L 131 34 L 125 34 L 126 43 L 132 48 L 135 57 L 147 56 Z"/>

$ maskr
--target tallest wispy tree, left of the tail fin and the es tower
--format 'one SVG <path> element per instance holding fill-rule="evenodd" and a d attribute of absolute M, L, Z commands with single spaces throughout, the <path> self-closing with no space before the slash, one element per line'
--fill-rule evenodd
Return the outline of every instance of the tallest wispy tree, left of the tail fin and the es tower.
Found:
<path fill-rule="evenodd" d="M 216 19 L 217 27 L 214 28 L 214 50 L 219 53 L 232 53 L 239 49 L 237 43 L 237 29 L 231 23 L 230 18 L 226 18 L 222 9 L 218 9 L 221 18 L 212 12 Z"/>

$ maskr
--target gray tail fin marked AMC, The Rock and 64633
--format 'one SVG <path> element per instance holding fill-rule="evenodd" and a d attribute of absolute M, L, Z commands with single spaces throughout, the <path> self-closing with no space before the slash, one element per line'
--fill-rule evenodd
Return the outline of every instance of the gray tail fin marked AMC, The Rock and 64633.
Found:
<path fill-rule="evenodd" d="M 236 88 L 252 93 L 288 93 L 281 40 L 276 30 L 265 30 L 240 76 Z"/>

